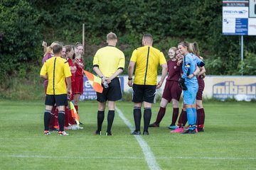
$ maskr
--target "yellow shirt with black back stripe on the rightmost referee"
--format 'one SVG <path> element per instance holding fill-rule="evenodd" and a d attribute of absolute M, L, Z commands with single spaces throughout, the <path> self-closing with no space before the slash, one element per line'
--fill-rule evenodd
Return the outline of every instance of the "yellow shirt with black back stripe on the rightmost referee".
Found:
<path fill-rule="evenodd" d="M 156 85 L 157 68 L 166 64 L 163 52 L 149 45 L 134 50 L 130 61 L 136 62 L 134 84 L 139 85 Z"/>

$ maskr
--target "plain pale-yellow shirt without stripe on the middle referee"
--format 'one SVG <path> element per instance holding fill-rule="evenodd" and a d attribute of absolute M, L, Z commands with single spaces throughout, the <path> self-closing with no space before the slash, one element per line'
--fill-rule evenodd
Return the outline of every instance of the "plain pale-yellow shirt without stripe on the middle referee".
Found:
<path fill-rule="evenodd" d="M 117 69 L 124 69 L 124 52 L 108 45 L 97 50 L 93 58 L 93 66 L 99 67 L 105 77 L 111 77 Z"/>

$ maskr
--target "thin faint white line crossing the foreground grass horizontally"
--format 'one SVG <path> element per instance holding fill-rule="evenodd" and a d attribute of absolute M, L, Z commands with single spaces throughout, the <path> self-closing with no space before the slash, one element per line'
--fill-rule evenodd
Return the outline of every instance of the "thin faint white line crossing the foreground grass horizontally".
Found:
<path fill-rule="evenodd" d="M 0 157 L 14 158 L 38 158 L 38 159 L 143 159 L 142 157 L 73 157 L 73 156 L 48 156 L 48 155 L 24 155 L 24 154 L 1 154 Z M 211 160 L 254 160 L 256 157 L 156 157 L 156 159 L 211 159 Z"/>

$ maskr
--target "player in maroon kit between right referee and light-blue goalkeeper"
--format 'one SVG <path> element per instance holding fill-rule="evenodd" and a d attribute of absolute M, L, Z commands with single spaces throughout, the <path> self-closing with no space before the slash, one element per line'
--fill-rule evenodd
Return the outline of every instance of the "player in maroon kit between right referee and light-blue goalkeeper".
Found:
<path fill-rule="evenodd" d="M 176 129 L 176 120 L 178 118 L 178 101 L 181 97 L 182 89 L 178 86 L 178 79 L 181 77 L 182 74 L 182 67 L 181 65 L 177 64 L 176 60 L 176 47 L 171 47 L 169 49 L 169 57 L 171 60 L 167 62 L 168 64 L 168 72 L 169 76 L 166 79 L 166 84 L 164 86 L 164 93 L 161 98 L 159 113 L 157 114 L 156 121 L 149 125 L 149 127 L 158 128 L 159 124 L 164 118 L 166 112 L 166 106 L 169 102 L 172 101 L 173 103 L 173 115 L 171 125 L 169 125 L 170 129 Z"/>

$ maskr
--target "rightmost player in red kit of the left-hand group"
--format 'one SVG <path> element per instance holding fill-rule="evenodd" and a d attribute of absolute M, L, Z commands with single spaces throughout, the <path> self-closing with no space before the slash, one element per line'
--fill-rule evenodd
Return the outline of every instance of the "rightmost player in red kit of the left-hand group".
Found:
<path fill-rule="evenodd" d="M 83 94 L 83 74 L 82 69 L 84 68 L 84 60 L 82 59 L 83 46 L 79 42 L 75 45 L 75 95 L 74 95 L 74 106 L 76 111 L 78 112 L 78 101 L 80 99 L 81 94 Z M 82 125 L 82 123 L 80 123 Z"/>

